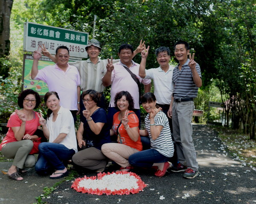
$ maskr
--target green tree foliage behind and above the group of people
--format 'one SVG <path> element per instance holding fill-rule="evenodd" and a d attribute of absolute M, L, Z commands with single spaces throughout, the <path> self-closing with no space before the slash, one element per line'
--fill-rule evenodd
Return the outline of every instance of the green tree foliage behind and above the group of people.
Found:
<path fill-rule="evenodd" d="M 95 38 L 102 44 L 102 58 L 117 58 L 119 45 L 136 47 L 140 39 L 150 45 L 147 68 L 157 67 L 154 51 L 173 50 L 186 40 L 202 71 L 203 90 L 212 81 L 219 88 L 226 125 L 242 123 L 255 137 L 256 121 L 256 6 L 253 0 L 16 0 L 15 27 L 26 21 L 89 32 L 97 16 Z M 134 59 L 140 62 L 140 55 Z M 172 57 L 172 63 L 177 63 Z M 212 80 L 213 79 L 213 80 Z M 201 93 L 196 106 L 205 108 L 209 96 Z M 241 117 L 239 122 L 237 118 Z"/>

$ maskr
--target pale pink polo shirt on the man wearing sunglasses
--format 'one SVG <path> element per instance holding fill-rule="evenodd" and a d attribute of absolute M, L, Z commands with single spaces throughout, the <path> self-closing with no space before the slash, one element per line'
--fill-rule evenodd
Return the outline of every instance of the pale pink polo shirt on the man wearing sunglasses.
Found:
<path fill-rule="evenodd" d="M 39 70 L 34 80 L 42 80 L 47 83 L 49 91 L 56 91 L 61 106 L 69 110 L 78 110 L 77 86 L 80 86 L 80 76 L 76 67 L 68 64 L 64 72 L 57 64 L 49 65 Z"/>

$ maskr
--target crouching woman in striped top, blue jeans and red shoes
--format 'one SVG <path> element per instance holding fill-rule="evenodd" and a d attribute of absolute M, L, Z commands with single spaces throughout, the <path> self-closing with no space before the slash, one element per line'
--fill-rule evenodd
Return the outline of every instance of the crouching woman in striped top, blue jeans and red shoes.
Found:
<path fill-rule="evenodd" d="M 129 163 L 137 167 L 156 166 L 155 176 L 164 176 L 169 168 L 169 157 L 174 153 L 169 122 L 162 108 L 156 105 L 154 94 L 145 93 L 141 102 L 148 115 L 145 117 L 145 130 L 140 130 L 140 135 L 149 136 L 151 149 L 134 153 L 129 157 Z"/>

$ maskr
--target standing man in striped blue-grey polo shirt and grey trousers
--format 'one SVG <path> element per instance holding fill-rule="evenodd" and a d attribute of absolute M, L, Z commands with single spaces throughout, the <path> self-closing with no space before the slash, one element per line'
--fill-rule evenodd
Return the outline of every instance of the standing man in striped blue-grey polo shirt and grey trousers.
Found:
<path fill-rule="evenodd" d="M 191 57 L 187 42 L 176 42 L 174 54 L 179 64 L 173 70 L 174 91 L 168 116 L 172 117 L 173 136 L 179 163 L 174 164 L 171 170 L 173 172 L 185 171 L 184 178 L 195 178 L 199 176 L 199 173 L 192 140 L 192 114 L 195 108 L 193 100 L 198 94 L 198 88 L 202 86 L 201 70 L 198 63 L 194 61 L 195 54 Z"/>

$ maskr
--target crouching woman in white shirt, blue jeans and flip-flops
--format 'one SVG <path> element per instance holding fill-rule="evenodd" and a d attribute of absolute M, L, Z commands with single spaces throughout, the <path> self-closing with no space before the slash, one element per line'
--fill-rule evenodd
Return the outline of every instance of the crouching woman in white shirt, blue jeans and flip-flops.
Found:
<path fill-rule="evenodd" d="M 44 136 L 49 142 L 42 142 L 39 149 L 35 170 L 38 174 L 52 173 L 51 179 L 68 175 L 63 160 L 70 160 L 77 152 L 76 132 L 72 113 L 60 106 L 60 99 L 55 91 L 47 92 L 44 101 L 49 108 L 47 120 L 40 113 L 39 123 Z"/>

